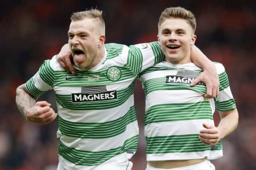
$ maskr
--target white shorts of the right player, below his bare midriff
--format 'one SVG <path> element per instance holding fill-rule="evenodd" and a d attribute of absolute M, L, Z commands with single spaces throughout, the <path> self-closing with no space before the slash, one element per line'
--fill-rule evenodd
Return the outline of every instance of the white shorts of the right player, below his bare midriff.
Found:
<path fill-rule="evenodd" d="M 206 159 L 199 164 L 183 166 L 180 168 L 171 168 L 171 169 L 154 168 L 152 166 L 147 165 L 146 170 L 215 170 L 215 166 L 210 162 L 210 160 Z"/>

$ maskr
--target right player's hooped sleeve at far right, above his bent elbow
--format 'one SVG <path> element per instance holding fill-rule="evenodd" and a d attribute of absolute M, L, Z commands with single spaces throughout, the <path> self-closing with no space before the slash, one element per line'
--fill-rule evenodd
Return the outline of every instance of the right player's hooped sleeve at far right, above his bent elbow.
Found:
<path fill-rule="evenodd" d="M 230 111 L 236 109 L 236 102 L 230 90 L 228 75 L 221 63 L 215 63 L 220 80 L 220 94 L 214 99 L 218 111 Z"/>

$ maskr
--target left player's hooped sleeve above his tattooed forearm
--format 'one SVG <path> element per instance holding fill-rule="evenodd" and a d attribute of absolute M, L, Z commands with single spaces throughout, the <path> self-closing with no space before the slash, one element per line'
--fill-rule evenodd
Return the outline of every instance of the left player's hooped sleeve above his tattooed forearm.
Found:
<path fill-rule="evenodd" d="M 44 92 L 52 89 L 54 83 L 52 63 L 54 63 L 52 60 L 44 61 L 39 71 L 26 82 L 26 89 L 35 98 L 38 98 Z"/>

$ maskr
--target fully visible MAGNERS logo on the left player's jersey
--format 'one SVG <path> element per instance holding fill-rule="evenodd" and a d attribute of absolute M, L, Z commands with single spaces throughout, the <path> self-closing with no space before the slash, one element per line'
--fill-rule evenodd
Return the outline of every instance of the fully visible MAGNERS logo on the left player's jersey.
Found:
<path fill-rule="evenodd" d="M 117 99 L 117 91 L 107 91 L 106 86 L 85 86 L 81 93 L 72 93 L 72 102 L 97 102 Z"/>

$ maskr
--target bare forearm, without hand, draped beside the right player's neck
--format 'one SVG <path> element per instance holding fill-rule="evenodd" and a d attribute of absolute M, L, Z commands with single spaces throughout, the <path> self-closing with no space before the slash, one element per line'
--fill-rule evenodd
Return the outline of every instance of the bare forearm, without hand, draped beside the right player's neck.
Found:
<path fill-rule="evenodd" d="M 212 61 L 210 61 L 205 55 L 204 53 L 202 53 L 202 51 L 200 49 L 198 49 L 198 47 L 196 47 L 195 45 L 193 45 L 191 47 L 191 61 L 196 64 L 197 66 L 199 66 L 200 68 L 202 68 L 203 70 L 216 70 L 214 63 Z"/>

